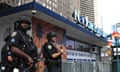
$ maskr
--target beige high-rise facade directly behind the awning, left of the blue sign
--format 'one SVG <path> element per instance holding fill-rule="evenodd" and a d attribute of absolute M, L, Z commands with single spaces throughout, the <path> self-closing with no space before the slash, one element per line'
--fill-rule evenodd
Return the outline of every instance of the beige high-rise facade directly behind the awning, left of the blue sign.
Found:
<path fill-rule="evenodd" d="M 71 20 L 72 18 L 72 0 L 36 0 L 48 9 L 59 13 Z"/>

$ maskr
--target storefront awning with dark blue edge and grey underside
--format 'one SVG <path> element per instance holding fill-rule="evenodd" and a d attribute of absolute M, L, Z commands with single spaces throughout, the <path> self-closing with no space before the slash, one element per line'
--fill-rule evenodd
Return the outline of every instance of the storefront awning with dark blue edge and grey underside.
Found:
<path fill-rule="evenodd" d="M 32 13 L 33 9 L 37 11 L 36 14 Z M 31 18 L 34 16 L 64 28 L 67 36 L 73 37 L 77 40 L 101 47 L 107 45 L 107 41 L 104 38 L 97 37 L 94 33 L 78 26 L 67 18 L 60 16 L 38 3 L 29 3 L 19 7 L 10 8 L 5 11 L 0 11 L 0 27 L 5 26 L 7 23 L 13 24 L 14 21 L 22 15 L 27 15 Z"/>

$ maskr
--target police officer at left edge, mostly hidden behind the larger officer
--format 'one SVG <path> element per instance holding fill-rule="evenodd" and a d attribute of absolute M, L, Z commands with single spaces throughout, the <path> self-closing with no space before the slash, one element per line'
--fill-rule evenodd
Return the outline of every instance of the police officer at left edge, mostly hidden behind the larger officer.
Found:
<path fill-rule="evenodd" d="M 11 52 L 9 49 L 9 42 L 8 40 L 10 39 L 10 35 L 8 35 L 4 41 L 5 45 L 1 49 L 1 72 L 12 72 L 12 66 L 11 66 Z"/>

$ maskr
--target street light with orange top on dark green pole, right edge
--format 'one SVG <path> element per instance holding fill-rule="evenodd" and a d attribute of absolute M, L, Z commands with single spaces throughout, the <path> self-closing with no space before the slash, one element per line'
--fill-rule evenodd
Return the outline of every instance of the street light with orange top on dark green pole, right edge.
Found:
<path fill-rule="evenodd" d="M 113 32 L 112 37 L 114 37 L 115 44 L 116 44 L 115 47 L 116 47 L 116 57 L 117 57 L 117 60 L 116 60 L 116 62 L 117 62 L 117 72 L 120 72 L 119 71 L 119 53 L 118 53 L 118 38 L 120 37 L 119 32 Z"/>

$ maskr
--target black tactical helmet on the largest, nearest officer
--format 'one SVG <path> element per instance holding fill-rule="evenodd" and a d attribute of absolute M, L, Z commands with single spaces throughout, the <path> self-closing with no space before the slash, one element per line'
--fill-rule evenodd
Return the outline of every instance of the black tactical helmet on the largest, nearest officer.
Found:
<path fill-rule="evenodd" d="M 30 18 L 26 17 L 26 16 L 22 16 L 20 17 L 16 22 L 15 22 L 15 29 L 18 29 L 20 27 L 20 24 L 22 22 L 26 22 L 27 24 L 31 25 L 32 21 L 30 20 Z M 30 29 L 30 27 L 28 28 Z"/>

